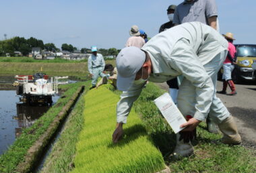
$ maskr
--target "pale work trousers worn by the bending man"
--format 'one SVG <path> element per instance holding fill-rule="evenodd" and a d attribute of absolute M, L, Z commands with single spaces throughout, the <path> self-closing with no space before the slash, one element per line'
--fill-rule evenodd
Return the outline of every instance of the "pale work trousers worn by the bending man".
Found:
<path fill-rule="evenodd" d="M 221 123 L 224 119 L 230 116 L 228 109 L 224 106 L 222 101 L 218 97 L 216 97 L 216 83 L 217 83 L 217 74 L 218 70 L 222 66 L 225 58 L 226 58 L 227 51 L 220 52 L 217 54 L 213 60 L 205 64 L 203 67 L 207 74 L 212 78 L 212 82 L 214 84 L 214 96 L 212 97 L 212 105 L 210 107 L 210 118 L 215 123 Z M 186 115 L 193 116 L 195 113 L 195 87 L 189 80 L 183 78 L 181 82 L 181 86 L 179 87 L 178 93 L 178 107 L 181 113 Z M 185 99 L 184 99 L 185 98 Z M 206 117 L 205 117 L 206 118 Z"/>

